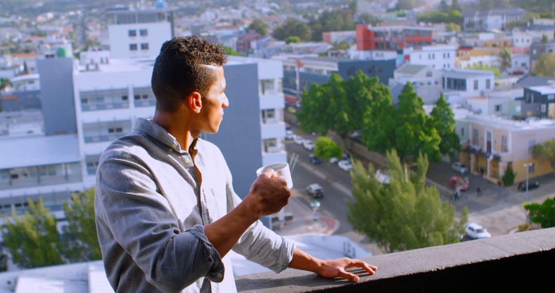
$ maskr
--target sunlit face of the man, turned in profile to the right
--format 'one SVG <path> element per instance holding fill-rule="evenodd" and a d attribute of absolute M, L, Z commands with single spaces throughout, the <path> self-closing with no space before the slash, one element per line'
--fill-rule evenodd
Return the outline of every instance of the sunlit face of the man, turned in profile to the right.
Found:
<path fill-rule="evenodd" d="M 224 119 L 224 108 L 229 106 L 228 97 L 225 96 L 225 78 L 223 67 L 213 67 L 214 83 L 206 91 L 202 99 L 203 107 L 200 109 L 198 129 L 206 133 L 217 133 L 221 120 Z"/>

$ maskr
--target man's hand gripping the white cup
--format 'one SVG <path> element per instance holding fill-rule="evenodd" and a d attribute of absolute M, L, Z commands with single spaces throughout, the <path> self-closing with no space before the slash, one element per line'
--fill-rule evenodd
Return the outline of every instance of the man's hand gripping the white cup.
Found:
<path fill-rule="evenodd" d="M 249 195 L 243 201 L 248 201 L 255 215 L 260 218 L 278 213 L 287 205 L 290 196 L 287 181 L 274 170 L 268 169 L 256 178 L 250 186 Z"/>

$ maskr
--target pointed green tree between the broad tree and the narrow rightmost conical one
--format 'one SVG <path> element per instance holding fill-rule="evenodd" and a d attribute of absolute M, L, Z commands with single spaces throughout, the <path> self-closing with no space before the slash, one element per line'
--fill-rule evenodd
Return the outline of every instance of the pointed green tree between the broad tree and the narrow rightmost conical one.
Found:
<path fill-rule="evenodd" d="M 412 83 L 407 83 L 398 97 L 395 112 L 395 148 L 403 161 L 423 153 L 432 161 L 440 161 L 440 135 L 422 108 L 424 101 L 416 94 Z"/>

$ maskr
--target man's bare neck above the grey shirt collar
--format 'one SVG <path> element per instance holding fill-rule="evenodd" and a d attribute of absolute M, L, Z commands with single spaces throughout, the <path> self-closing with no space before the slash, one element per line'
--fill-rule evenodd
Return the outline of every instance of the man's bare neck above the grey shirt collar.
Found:
<path fill-rule="evenodd" d="M 193 143 L 193 140 L 200 135 L 200 132 L 190 129 L 188 117 L 179 112 L 166 113 L 156 110 L 152 120 L 173 135 L 182 150 L 189 151 L 189 146 Z"/>

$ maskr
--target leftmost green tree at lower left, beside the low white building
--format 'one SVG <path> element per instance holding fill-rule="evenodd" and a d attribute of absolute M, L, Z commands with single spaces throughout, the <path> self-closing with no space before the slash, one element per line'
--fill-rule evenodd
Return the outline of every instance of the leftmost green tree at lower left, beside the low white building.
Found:
<path fill-rule="evenodd" d="M 14 264 L 22 268 L 63 264 L 56 219 L 44 208 L 42 199 L 37 203 L 27 199 L 27 203 L 29 211 L 23 215 L 13 211 L 12 219 L 3 216 L 2 237 Z"/>

